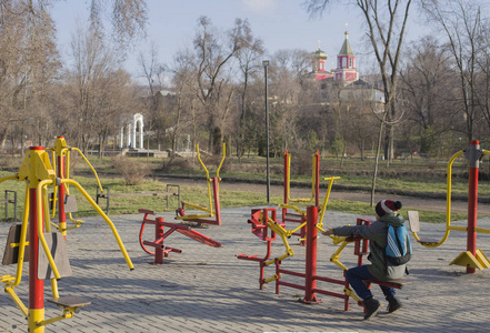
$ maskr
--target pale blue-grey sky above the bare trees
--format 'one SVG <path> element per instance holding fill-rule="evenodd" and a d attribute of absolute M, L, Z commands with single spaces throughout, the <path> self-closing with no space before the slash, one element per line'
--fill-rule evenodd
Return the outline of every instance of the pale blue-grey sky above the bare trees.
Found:
<path fill-rule="evenodd" d="M 90 2 L 90 1 L 89 1 Z M 346 23 L 349 41 L 358 56 L 358 67 L 366 63 L 362 54 L 370 49 L 362 41 L 366 34 L 362 17 L 357 8 L 337 4 L 321 18 L 310 19 L 302 8 L 302 0 L 148 0 L 148 38 L 141 40 L 131 51 L 124 68 L 133 78 L 140 74 L 137 54 L 148 51 L 151 42 L 158 47 L 159 59 L 170 63 L 179 49 L 190 47 L 200 16 L 207 16 L 222 29 L 233 26 L 234 19 L 248 19 L 256 37 L 264 42 L 269 54 L 281 49 L 302 49 L 313 52 L 320 47 L 329 54 L 328 68 L 336 63 L 336 57 L 344 40 Z M 71 36 L 77 21 L 88 20 L 87 0 L 56 2 L 53 19 L 58 29 L 59 50 L 64 59 L 70 52 Z M 417 12 L 413 10 L 413 17 Z M 409 38 L 423 34 L 420 24 L 411 24 Z M 266 56 L 268 57 L 268 56 Z"/>

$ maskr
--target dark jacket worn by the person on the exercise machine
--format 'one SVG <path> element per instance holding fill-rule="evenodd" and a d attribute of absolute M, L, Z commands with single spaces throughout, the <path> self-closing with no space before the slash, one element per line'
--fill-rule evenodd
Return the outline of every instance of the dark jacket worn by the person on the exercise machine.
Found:
<path fill-rule="evenodd" d="M 404 222 L 403 216 L 399 212 L 386 214 L 371 223 L 370 225 L 340 226 L 333 229 L 333 234 L 339 236 L 360 235 L 368 239 L 370 254 L 368 260 L 369 272 L 381 281 L 399 280 L 406 272 L 406 264 L 393 266 L 388 263 L 384 256 L 384 248 L 387 246 L 388 224 L 400 226 Z"/>

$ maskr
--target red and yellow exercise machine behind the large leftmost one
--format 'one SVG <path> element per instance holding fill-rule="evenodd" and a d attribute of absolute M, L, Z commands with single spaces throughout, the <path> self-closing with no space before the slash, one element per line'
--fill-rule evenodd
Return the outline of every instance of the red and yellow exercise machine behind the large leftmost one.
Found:
<path fill-rule="evenodd" d="M 46 150 L 52 152 L 54 172 L 56 175 L 60 179 L 70 178 L 70 153 L 72 151 L 78 152 L 80 157 L 83 159 L 83 161 L 87 163 L 87 165 L 89 165 L 89 168 L 92 170 L 98 184 L 98 190 L 100 189 L 102 191 L 102 185 L 100 184 L 100 180 L 99 176 L 97 175 L 96 169 L 93 169 L 92 164 L 90 164 L 89 160 L 87 160 L 87 158 L 78 148 L 67 145 L 67 141 L 64 140 L 64 137 L 58 137 L 54 142 L 54 147 L 47 148 Z M 53 222 L 50 223 L 64 236 L 67 236 L 67 230 L 79 228 L 81 223 L 83 223 L 83 221 L 74 220 L 72 216 L 72 213 L 77 212 L 78 208 L 74 195 L 70 195 L 70 190 L 68 184 L 54 185 L 54 190 L 51 196 L 51 208 L 52 208 L 51 219 L 54 219 L 58 209 L 58 224 Z M 70 221 L 74 224 L 69 228 L 67 226 L 67 213 Z"/>

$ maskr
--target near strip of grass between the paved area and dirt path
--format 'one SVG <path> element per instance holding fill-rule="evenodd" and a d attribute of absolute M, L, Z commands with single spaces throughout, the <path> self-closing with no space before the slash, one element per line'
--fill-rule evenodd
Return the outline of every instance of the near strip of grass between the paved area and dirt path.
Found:
<path fill-rule="evenodd" d="M 0 176 L 11 175 L 9 172 L 0 172 Z M 263 178 L 263 175 L 262 175 Z M 97 193 L 97 182 L 93 178 L 74 176 L 73 180 L 79 182 L 82 188 L 89 193 L 91 198 L 96 198 Z M 102 179 L 103 186 L 109 186 L 111 193 L 141 193 L 141 192 L 162 192 L 166 189 L 166 184 L 158 181 L 143 181 L 138 185 L 127 185 L 122 179 Z M 22 216 L 23 202 L 26 198 L 26 184 L 19 181 L 6 181 L 0 183 L 0 194 L 3 191 L 14 190 L 18 195 L 18 218 Z M 481 188 L 480 188 L 481 189 Z M 480 190 L 479 189 L 479 190 Z M 87 202 L 81 193 L 77 191 L 73 186 L 69 189 L 71 194 L 77 198 L 77 205 L 79 211 L 73 213 L 73 218 L 83 218 L 97 215 L 96 210 Z M 182 186 L 181 188 L 182 200 L 201 204 L 203 206 L 209 206 L 209 196 L 207 188 L 199 186 Z M 272 204 L 282 203 L 282 196 L 271 196 Z M 220 205 L 221 208 L 237 208 L 237 206 L 258 206 L 266 205 L 267 199 L 263 193 L 253 192 L 241 192 L 241 191 L 220 191 Z M 102 210 L 106 210 L 106 202 L 100 202 Z M 118 196 L 110 201 L 110 214 L 127 214 L 127 213 L 138 213 L 139 209 L 148 209 L 158 212 L 173 211 L 178 208 L 177 196 L 171 196 L 169 202 L 169 210 L 167 210 L 166 196 Z M 303 206 L 304 208 L 304 206 Z M 353 213 L 359 215 L 374 215 L 373 208 L 368 203 L 354 202 L 354 201 L 338 201 L 331 200 L 328 204 L 329 211 L 338 211 L 346 213 Z M 404 208 L 401 210 L 403 216 L 407 218 L 407 210 L 410 208 Z M 432 211 L 419 211 L 420 221 L 430 223 L 442 223 L 446 222 L 446 213 L 432 212 Z M 1 218 L 4 215 L 2 214 Z M 9 208 L 9 216 L 13 216 L 13 208 Z M 466 214 L 451 214 L 451 221 L 464 220 Z M 2 219 L 4 221 L 4 219 Z M 11 220 L 11 219 L 9 219 Z"/>

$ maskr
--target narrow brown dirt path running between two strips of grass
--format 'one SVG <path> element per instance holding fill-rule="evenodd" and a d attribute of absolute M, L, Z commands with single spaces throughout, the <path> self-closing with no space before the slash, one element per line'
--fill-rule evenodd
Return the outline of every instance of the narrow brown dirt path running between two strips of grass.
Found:
<path fill-rule="evenodd" d="M 166 183 L 180 184 L 180 185 L 192 185 L 192 186 L 206 186 L 206 181 L 196 181 L 190 179 L 160 179 Z M 247 191 L 263 193 L 267 196 L 267 186 L 264 184 L 251 184 L 251 183 L 239 183 L 239 182 L 220 182 L 220 189 L 230 191 Z M 271 195 L 283 195 L 283 186 L 271 185 Z M 324 194 L 324 193 L 323 193 Z M 311 195 L 311 188 L 291 188 L 292 198 L 309 198 Z M 336 191 L 333 188 L 330 193 L 330 199 L 332 200 L 350 200 L 369 203 L 371 201 L 371 194 L 368 192 L 348 192 L 348 191 Z M 446 212 L 446 200 L 438 199 L 423 199 L 414 198 L 408 195 L 394 195 L 394 194 L 377 194 L 376 201 L 382 199 L 399 200 L 403 203 L 403 206 L 413 210 L 429 210 Z M 451 202 L 451 211 L 453 213 L 468 213 L 468 202 L 453 200 Z M 478 205 L 478 214 L 490 216 L 490 204 Z"/>

